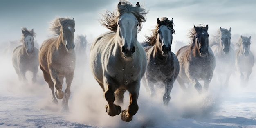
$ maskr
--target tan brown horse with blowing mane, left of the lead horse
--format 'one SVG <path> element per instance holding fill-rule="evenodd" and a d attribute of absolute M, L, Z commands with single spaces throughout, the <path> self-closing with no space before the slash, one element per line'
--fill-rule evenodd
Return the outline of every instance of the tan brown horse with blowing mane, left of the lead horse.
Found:
<path fill-rule="evenodd" d="M 50 30 L 54 36 L 44 40 L 39 49 L 40 69 L 52 91 L 52 102 L 58 103 L 56 97 L 63 99 L 62 111 L 68 112 L 70 86 L 74 77 L 76 62 L 74 51 L 75 20 L 74 18 L 55 18 Z M 67 85 L 65 93 L 62 91 L 64 77 Z M 55 94 L 54 86 L 56 88 Z"/>

